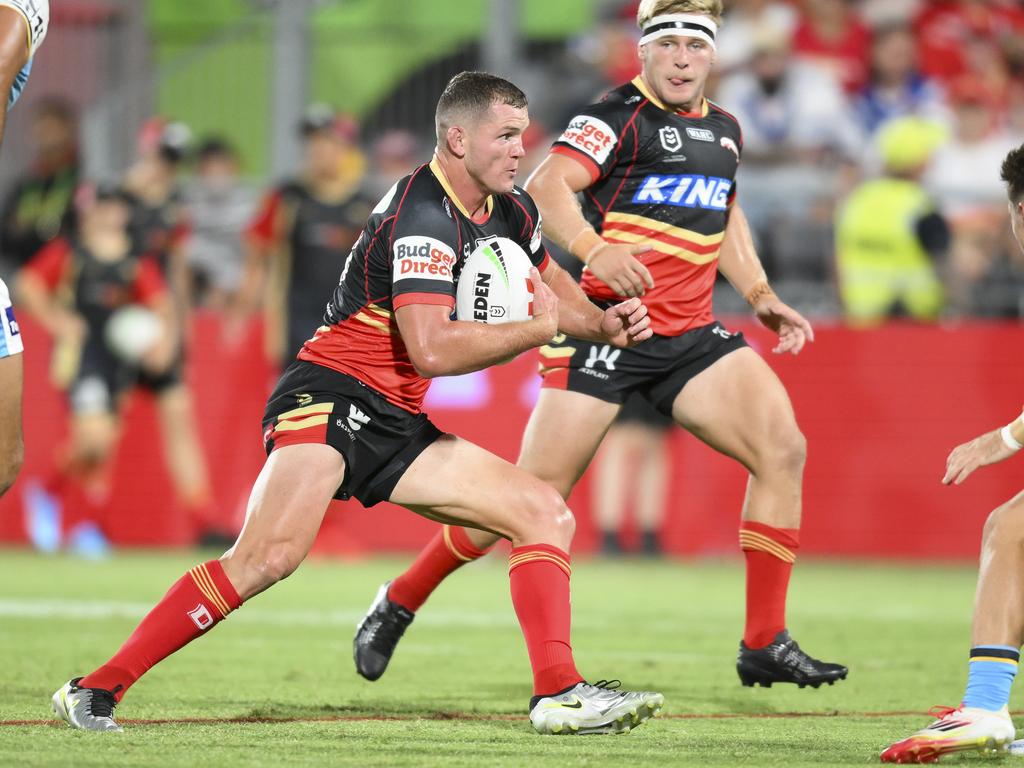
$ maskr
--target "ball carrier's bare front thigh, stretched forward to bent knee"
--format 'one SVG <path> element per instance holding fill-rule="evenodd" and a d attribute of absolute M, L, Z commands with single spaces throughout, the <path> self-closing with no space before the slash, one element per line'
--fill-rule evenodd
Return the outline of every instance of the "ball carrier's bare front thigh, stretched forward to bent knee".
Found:
<path fill-rule="evenodd" d="M 434 440 L 416 458 L 389 501 L 435 520 L 492 530 L 512 541 L 572 525 L 571 513 L 554 488 L 452 434 Z"/>

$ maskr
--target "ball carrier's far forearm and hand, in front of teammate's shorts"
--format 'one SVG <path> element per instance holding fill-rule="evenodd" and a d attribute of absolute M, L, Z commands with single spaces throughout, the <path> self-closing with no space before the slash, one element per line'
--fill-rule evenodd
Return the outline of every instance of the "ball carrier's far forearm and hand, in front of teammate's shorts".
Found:
<path fill-rule="evenodd" d="M 548 260 L 543 276 L 558 297 L 559 333 L 621 347 L 650 338 L 650 318 L 640 299 L 627 299 L 601 310 L 553 260 Z"/>

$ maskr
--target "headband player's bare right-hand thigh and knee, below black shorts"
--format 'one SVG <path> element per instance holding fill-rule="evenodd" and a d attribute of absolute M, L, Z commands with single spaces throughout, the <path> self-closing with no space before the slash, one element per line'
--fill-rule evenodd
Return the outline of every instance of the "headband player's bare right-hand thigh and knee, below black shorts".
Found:
<path fill-rule="evenodd" d="M 802 465 L 805 443 L 785 387 L 742 347 L 690 379 L 672 403 L 684 429 L 757 473 L 775 460 Z"/>

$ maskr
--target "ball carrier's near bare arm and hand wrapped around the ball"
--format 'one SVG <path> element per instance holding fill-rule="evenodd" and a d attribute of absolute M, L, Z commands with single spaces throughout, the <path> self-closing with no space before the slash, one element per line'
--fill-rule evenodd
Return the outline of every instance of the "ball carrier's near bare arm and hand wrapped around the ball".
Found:
<path fill-rule="evenodd" d="M 558 299 L 536 268 L 534 317 L 489 326 L 451 319 L 451 303 L 408 303 L 395 309 L 409 357 L 425 378 L 457 376 L 504 362 L 547 343 L 558 331 Z"/>

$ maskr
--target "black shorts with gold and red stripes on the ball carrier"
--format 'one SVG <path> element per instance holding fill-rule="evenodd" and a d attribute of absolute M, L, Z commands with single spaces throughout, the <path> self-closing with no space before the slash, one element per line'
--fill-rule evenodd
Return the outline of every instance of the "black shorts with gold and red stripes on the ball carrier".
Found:
<path fill-rule="evenodd" d="M 285 371 L 263 414 L 263 444 L 323 443 L 345 458 L 335 499 L 387 501 L 417 457 L 443 433 L 350 376 L 307 360 Z"/>

